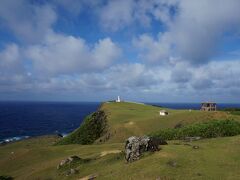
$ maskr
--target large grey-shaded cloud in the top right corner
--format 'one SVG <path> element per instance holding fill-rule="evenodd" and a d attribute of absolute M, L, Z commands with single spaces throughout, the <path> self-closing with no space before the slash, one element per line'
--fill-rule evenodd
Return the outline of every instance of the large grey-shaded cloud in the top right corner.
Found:
<path fill-rule="evenodd" d="M 224 33 L 240 30 L 239 6 L 238 0 L 180 1 L 178 17 L 170 25 L 180 56 L 193 63 L 209 61 Z"/>

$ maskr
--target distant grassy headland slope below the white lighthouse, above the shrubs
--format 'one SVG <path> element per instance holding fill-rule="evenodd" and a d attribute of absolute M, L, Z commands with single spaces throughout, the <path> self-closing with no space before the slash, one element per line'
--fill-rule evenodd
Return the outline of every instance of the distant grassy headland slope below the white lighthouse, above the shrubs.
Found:
<path fill-rule="evenodd" d="M 171 110 L 168 116 L 159 116 L 161 108 L 134 103 L 104 103 L 102 109 L 107 113 L 111 138 L 109 143 L 123 142 L 131 135 L 144 135 L 164 128 L 212 119 L 240 119 L 227 112 L 202 112 L 192 110 Z"/>

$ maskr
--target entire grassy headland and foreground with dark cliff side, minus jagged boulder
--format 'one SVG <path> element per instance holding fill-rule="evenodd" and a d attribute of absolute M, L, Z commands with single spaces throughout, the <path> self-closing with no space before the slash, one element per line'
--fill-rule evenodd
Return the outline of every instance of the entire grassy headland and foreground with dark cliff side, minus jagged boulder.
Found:
<path fill-rule="evenodd" d="M 239 179 L 240 136 L 232 134 L 239 127 L 236 123 L 240 122 L 239 115 L 165 108 L 169 115 L 160 116 L 162 109 L 127 102 L 103 103 L 65 138 L 45 136 L 0 146 L 0 176 L 14 179 Z M 211 132 L 211 136 L 181 140 L 174 135 L 196 135 L 203 129 Z M 125 140 L 154 132 L 155 136 L 165 135 L 168 145 L 160 146 L 154 153 L 144 153 L 136 162 L 126 163 L 122 153 Z M 215 138 L 208 138 L 214 135 L 212 132 L 231 137 L 219 137 L 221 134 L 217 133 Z M 172 135 L 176 138 L 171 138 Z M 105 137 L 109 139 L 103 141 Z M 62 145 L 56 146 L 56 143 Z M 63 166 L 58 168 L 61 163 Z"/>

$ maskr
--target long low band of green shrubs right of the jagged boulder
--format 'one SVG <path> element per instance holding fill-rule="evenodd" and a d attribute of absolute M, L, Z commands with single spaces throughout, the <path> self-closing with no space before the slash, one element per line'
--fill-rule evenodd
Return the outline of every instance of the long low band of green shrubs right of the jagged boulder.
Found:
<path fill-rule="evenodd" d="M 239 122 L 234 120 L 213 120 L 205 123 L 192 124 L 182 128 L 160 130 L 151 134 L 151 136 L 161 137 L 165 140 L 177 140 L 193 136 L 214 138 L 238 134 L 240 134 Z"/>

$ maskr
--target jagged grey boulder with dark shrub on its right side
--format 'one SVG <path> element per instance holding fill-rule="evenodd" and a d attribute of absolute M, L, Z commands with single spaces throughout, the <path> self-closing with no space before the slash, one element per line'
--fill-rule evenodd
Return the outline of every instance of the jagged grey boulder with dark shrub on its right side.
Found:
<path fill-rule="evenodd" d="M 153 138 L 148 136 L 129 137 L 125 144 L 125 159 L 128 162 L 138 160 L 143 152 L 159 151 L 159 145 L 165 145 L 167 142 L 160 138 Z"/>

